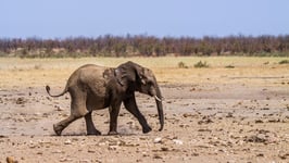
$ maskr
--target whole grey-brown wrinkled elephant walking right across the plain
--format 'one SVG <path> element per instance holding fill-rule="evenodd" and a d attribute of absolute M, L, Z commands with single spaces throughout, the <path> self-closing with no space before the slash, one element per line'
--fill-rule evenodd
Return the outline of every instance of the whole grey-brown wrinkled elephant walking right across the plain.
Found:
<path fill-rule="evenodd" d="M 47 86 L 46 89 L 51 97 L 70 92 L 72 99 L 71 115 L 53 125 L 56 135 L 61 135 L 65 127 L 80 117 L 85 117 L 87 135 L 101 135 L 95 127 L 91 112 L 105 108 L 110 111 L 109 135 L 115 135 L 122 102 L 127 111 L 138 118 L 142 133 L 149 133 L 151 127 L 137 106 L 135 91 L 154 97 L 161 124 L 159 130 L 164 126 L 162 95 L 152 71 L 130 61 L 116 68 L 87 64 L 71 75 L 62 93 L 52 96 L 50 87 Z"/>

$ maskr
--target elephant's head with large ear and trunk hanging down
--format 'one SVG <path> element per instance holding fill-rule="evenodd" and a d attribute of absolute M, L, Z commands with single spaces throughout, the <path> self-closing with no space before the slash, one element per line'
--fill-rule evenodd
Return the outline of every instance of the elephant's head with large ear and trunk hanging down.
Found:
<path fill-rule="evenodd" d="M 127 91 L 139 91 L 154 97 L 161 127 L 164 126 L 162 93 L 151 70 L 142 67 L 134 62 L 121 64 L 115 71 L 117 82 L 126 87 Z"/>

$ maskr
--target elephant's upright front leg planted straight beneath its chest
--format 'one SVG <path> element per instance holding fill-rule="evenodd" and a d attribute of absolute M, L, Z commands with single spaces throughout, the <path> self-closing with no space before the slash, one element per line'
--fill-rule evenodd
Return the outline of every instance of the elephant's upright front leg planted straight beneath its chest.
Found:
<path fill-rule="evenodd" d="M 110 131 L 109 135 L 117 135 L 117 117 L 121 109 L 121 103 L 117 102 L 110 106 Z"/>

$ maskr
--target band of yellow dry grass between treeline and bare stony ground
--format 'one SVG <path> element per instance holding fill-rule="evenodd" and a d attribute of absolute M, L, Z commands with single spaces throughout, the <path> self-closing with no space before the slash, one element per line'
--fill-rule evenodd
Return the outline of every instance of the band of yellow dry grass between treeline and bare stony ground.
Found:
<path fill-rule="evenodd" d="M 104 66 L 117 66 L 126 61 L 134 61 L 154 71 L 161 83 L 198 84 L 198 83 L 243 83 L 254 78 L 257 85 L 289 82 L 289 65 L 278 64 L 287 58 L 81 58 L 81 59 L 0 59 L 0 87 L 21 86 L 64 86 L 70 74 L 83 64 L 93 63 Z M 209 68 L 194 68 L 199 61 L 206 62 Z M 188 68 L 179 68 L 178 63 Z M 234 68 L 227 68 L 227 66 Z M 235 78 L 235 79 L 233 79 Z"/>

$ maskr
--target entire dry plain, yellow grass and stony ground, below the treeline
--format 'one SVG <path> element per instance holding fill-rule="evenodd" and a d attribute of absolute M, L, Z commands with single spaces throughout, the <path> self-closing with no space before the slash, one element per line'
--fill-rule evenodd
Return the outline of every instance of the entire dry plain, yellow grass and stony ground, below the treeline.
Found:
<path fill-rule="evenodd" d="M 288 58 L 0 58 L 0 162 L 289 162 Z M 102 136 L 86 136 L 85 120 L 62 136 L 52 125 L 70 115 L 61 92 L 83 64 L 134 61 L 161 86 L 165 126 L 159 131 L 154 99 L 137 93 L 152 127 L 142 134 L 124 106 L 118 133 L 108 136 L 109 110 L 93 112 Z M 209 67 L 194 67 L 202 61 Z"/>

